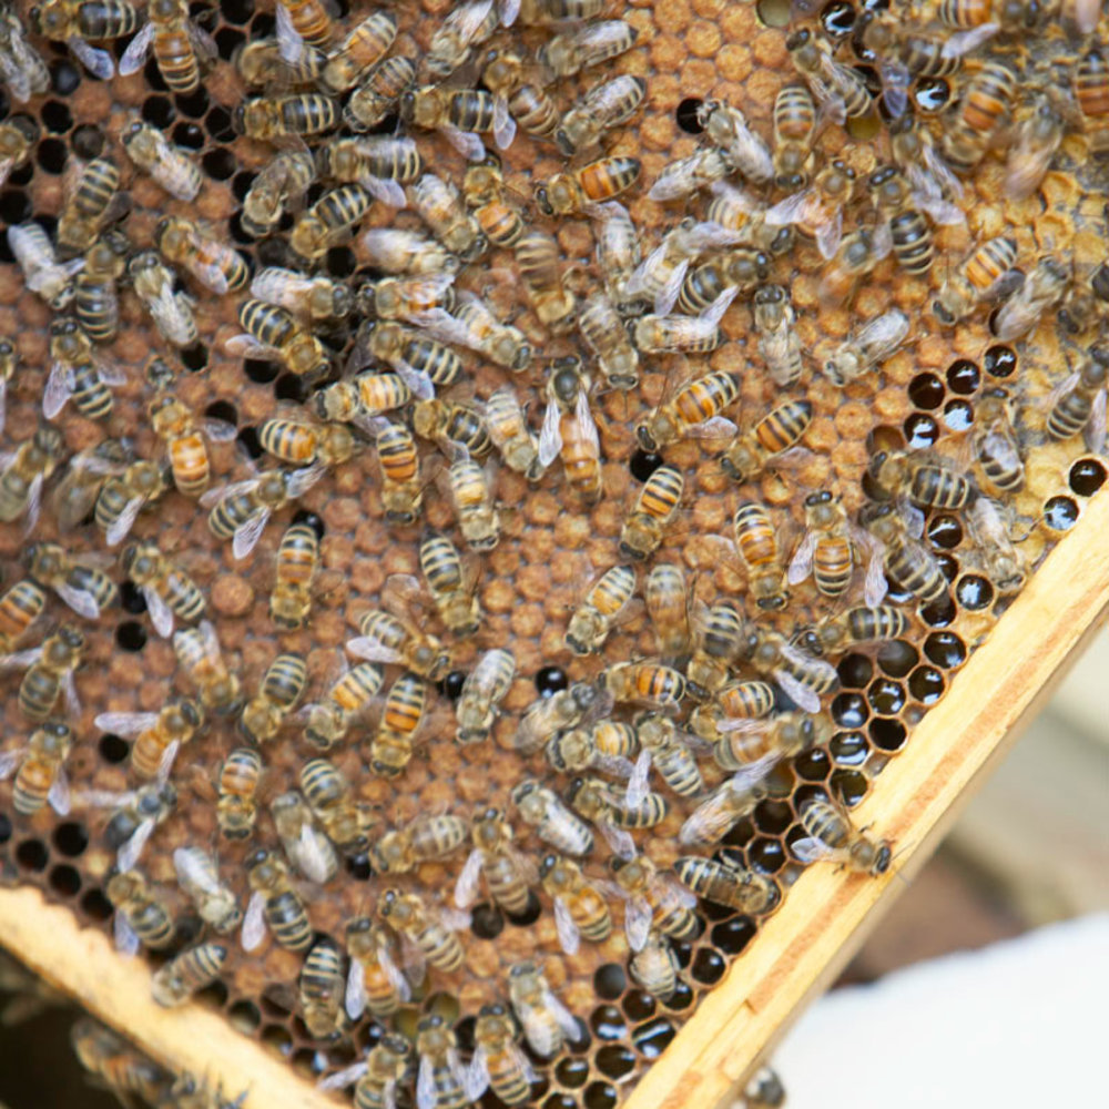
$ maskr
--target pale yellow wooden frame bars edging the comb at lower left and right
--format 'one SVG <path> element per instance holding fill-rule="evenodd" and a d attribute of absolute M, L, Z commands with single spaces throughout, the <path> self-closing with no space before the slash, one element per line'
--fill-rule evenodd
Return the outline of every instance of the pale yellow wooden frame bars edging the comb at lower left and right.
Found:
<path fill-rule="evenodd" d="M 824 989 L 950 826 L 962 805 L 1109 613 L 1109 494 L 1087 506 L 945 698 L 856 811 L 896 844 L 891 872 L 866 878 L 812 866 L 750 952 L 702 1001 L 627 1109 L 718 1109 Z M 323 1109 L 335 1101 L 260 1044 L 228 1035 L 200 1006 L 162 1009 L 150 973 L 102 933 L 78 927 L 35 889 L 0 891 L 0 944 L 159 1062 L 247 1090 L 246 1109 Z"/>

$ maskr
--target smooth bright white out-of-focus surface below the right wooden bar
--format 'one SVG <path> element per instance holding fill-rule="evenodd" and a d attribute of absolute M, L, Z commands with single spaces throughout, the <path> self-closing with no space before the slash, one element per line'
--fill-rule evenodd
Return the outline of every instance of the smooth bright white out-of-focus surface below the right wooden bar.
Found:
<path fill-rule="evenodd" d="M 1106 1109 L 1109 914 L 824 997 L 775 1054 L 787 1109 Z"/>

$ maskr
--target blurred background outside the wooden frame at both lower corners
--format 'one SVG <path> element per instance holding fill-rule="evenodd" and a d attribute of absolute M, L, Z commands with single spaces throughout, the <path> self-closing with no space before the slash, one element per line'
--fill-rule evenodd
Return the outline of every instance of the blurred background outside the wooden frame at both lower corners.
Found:
<path fill-rule="evenodd" d="M 26 1016 L 12 985 L 0 973 L 0 1102 L 118 1105 L 84 1082 L 75 1013 Z M 774 1065 L 791 1109 L 1105 1105 L 1107 990 L 1102 631 Z"/>

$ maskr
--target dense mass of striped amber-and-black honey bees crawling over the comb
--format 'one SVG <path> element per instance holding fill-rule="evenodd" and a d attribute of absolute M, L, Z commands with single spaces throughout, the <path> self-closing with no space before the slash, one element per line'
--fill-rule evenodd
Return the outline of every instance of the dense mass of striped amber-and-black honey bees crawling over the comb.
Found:
<path fill-rule="evenodd" d="M 661 110 L 638 72 L 650 23 L 637 12 L 619 18 L 601 0 L 468 0 L 437 23 L 360 7 L 340 23 L 318 0 L 278 2 L 273 35 L 252 37 L 233 59 L 245 90 L 234 125 L 244 149 L 264 153 L 231 235 L 183 214 L 211 184 L 185 150 L 133 118 L 75 166 L 57 221 L 8 227 L 26 287 L 52 314 L 49 367 L 21 365 L 19 336 L 0 336 L 0 399 L 27 397 L 47 369 L 41 418 L 9 427 L 20 441 L 0 464 L 0 521 L 27 536 L 0 597 L 0 667 L 22 671 L 14 711 L 30 731 L 7 742 L 0 777 L 32 826 L 50 811 L 111 812 L 104 889 L 116 943 L 165 953 L 153 976 L 160 1004 L 220 980 L 268 936 L 303 957 L 295 1008 L 308 1037 L 335 1045 L 375 1022 L 366 1057 L 325 1079 L 353 1085 L 360 1109 L 394 1106 L 409 1089 L 418 1109 L 460 1109 L 487 1091 L 529 1102 L 547 1088 L 545 1066 L 588 1040 L 559 996 L 556 957 L 518 959 L 491 983 L 465 1044 L 441 1011 L 403 1019 L 465 968 L 460 929 L 479 898 L 510 922 L 549 912 L 570 959 L 612 942 L 622 923 L 631 979 L 672 999 L 683 986 L 675 945 L 703 927 L 699 899 L 755 918 L 781 903 L 783 884 L 725 841 L 775 772 L 827 743 L 837 660 L 913 634 L 922 607 L 949 599 L 922 539 L 927 515 L 962 519 L 998 593 L 1024 583 L 1013 505 L 1030 445 L 1082 436 L 1089 451 L 1105 447 L 1109 264 L 1078 266 L 1050 245 L 1029 254 L 1006 226 L 940 264 L 937 240 L 965 231 L 965 190 L 979 174 L 1000 173 L 1018 203 L 1044 187 L 1068 136 L 1082 136 L 1091 160 L 1109 154 L 1100 6 L 874 3 L 847 8 L 849 19 L 845 7 L 794 6 L 781 35 L 793 72 L 769 130 L 725 99 L 691 96 L 672 106 L 700 136 L 695 150 L 648 181 L 645 159 L 614 152 L 640 113 Z M 1042 48 L 1028 51 L 1029 37 Z M 0 78 L 12 101 L 50 88 L 43 39 L 102 81 L 116 69 L 149 74 L 152 53 L 161 85 L 180 96 L 196 94 L 218 54 L 183 0 L 145 11 L 48 0 L 24 17 L 6 7 Z M 113 42 L 119 50 L 105 49 Z M 953 98 L 942 129 L 917 106 L 936 82 Z M 39 139 L 30 112 L 0 122 L 0 179 L 22 180 Z M 865 175 L 852 159 L 864 140 L 878 152 Z M 522 172 L 539 157 L 561 166 Z M 132 230 L 129 174 L 179 202 L 166 201 L 150 241 Z M 664 224 L 653 237 L 645 212 Z M 581 233 L 588 256 L 568 260 Z M 257 244 L 256 260 L 236 236 Z M 365 267 L 336 276 L 330 260 L 352 243 Z M 807 349 L 791 283 L 798 258 L 818 266 L 822 311 L 862 303 L 887 258 L 904 279 L 932 283 L 926 311 L 914 319 L 889 307 Z M 175 368 L 194 368 L 207 303 L 234 303 L 241 327 L 222 336 L 218 356 L 275 364 L 299 398 L 257 428 L 255 457 L 272 465 L 241 458 L 250 476 L 230 484 L 213 484 L 213 459 L 225 457 L 215 445 L 238 428 L 186 404 Z M 155 349 L 139 375 L 110 355 L 129 305 Z M 984 319 L 998 343 L 1020 349 L 1042 325 L 1074 352 L 1042 410 L 1022 408 L 1009 386 L 984 388 L 958 457 L 873 444 L 851 487 L 801 479 L 820 461 L 805 446 L 817 394 L 824 404 L 828 389 L 866 396 L 925 330 L 958 335 Z M 760 415 L 736 424 L 754 387 Z M 67 406 L 82 427 L 114 431 L 121 395 L 141 396 L 142 428 L 72 451 L 59 421 Z M 1031 431 L 1029 417 L 1040 421 Z M 703 457 L 689 452 L 694 444 Z M 610 528 L 617 461 L 642 485 Z M 709 554 L 692 564 L 683 529 L 693 479 L 710 468 L 730 527 L 700 537 Z M 305 632 L 327 529 L 326 509 L 302 501 L 325 505 L 352 472 L 418 573 L 384 574 L 374 603 L 350 608 L 358 634 L 309 699 Z M 763 496 L 773 481 L 800 491 L 803 521 L 782 525 Z M 556 637 L 559 665 L 538 675 L 518 673 L 511 635 L 491 633 L 482 603 L 498 547 L 540 566 L 550 553 L 529 551 L 505 488 L 521 501 L 559 490 L 560 511 L 607 542 Z M 211 590 L 154 538 L 171 498 L 199 502 L 213 546 L 236 563 L 261 563 L 267 525 L 288 517 L 263 571 L 281 649 L 254 688 L 221 647 Z M 735 584 L 712 597 L 721 567 Z M 73 615 L 104 619 L 121 583 L 171 641 L 186 695 L 96 713 L 91 731 L 133 740 L 131 788 L 75 788 L 65 766 L 90 729 L 74 684 L 87 629 Z M 643 611 L 653 652 L 618 654 L 621 630 Z M 454 669 L 464 658 L 468 670 Z M 521 704 L 532 678 L 539 695 Z M 429 724 L 437 701 L 452 723 Z M 227 741 L 214 773 L 185 774 L 189 745 L 212 736 Z M 393 824 L 366 802 L 367 782 L 403 796 L 414 760 L 455 745 L 520 767 L 502 804 Z M 288 749 L 297 773 L 275 784 L 275 752 Z M 344 769 L 352 753 L 358 775 Z M 144 859 L 186 791 L 214 807 L 218 843 L 172 851 L 167 896 Z M 797 864 L 872 875 L 891 865 L 891 845 L 827 793 L 804 798 L 796 825 Z M 444 864 L 455 861 L 445 896 Z M 313 902 L 350 866 L 373 875 L 367 907 L 342 935 L 321 933 Z M 204 929 L 184 946 L 182 897 Z M 113 1057 L 105 1037 L 92 1029 L 79 1045 L 101 1059 L 93 1070 Z"/>

